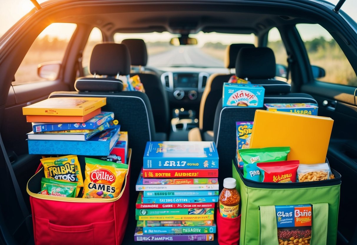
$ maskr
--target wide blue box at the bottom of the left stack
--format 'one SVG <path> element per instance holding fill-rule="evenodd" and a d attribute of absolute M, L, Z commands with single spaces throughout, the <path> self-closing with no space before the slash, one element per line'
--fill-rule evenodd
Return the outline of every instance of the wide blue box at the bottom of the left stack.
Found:
<path fill-rule="evenodd" d="M 120 125 L 104 130 L 87 141 L 27 140 L 29 154 L 107 156 L 119 139 Z"/>

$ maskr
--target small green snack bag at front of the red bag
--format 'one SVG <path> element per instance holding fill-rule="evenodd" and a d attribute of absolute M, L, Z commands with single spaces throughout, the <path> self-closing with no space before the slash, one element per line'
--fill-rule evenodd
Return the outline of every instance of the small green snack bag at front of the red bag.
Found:
<path fill-rule="evenodd" d="M 41 194 L 59 197 L 75 197 L 77 183 L 42 178 Z"/>

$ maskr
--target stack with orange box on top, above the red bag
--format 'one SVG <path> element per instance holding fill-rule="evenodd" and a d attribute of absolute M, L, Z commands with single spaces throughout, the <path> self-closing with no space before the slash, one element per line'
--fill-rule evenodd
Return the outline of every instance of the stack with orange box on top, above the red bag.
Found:
<path fill-rule="evenodd" d="M 25 106 L 29 154 L 108 156 L 120 136 L 105 97 L 57 97 Z M 117 122 L 117 121 L 116 121 Z"/>

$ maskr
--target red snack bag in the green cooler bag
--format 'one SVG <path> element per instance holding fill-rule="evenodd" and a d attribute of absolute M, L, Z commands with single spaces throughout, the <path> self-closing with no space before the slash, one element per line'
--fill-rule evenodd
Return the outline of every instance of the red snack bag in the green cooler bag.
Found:
<path fill-rule="evenodd" d="M 296 182 L 296 171 L 299 167 L 299 160 L 258 162 L 257 167 L 262 170 L 263 182 Z"/>

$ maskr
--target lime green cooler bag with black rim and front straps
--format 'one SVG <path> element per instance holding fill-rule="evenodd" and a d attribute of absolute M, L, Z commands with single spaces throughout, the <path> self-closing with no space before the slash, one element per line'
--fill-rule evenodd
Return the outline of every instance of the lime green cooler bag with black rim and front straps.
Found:
<path fill-rule="evenodd" d="M 245 179 L 232 164 L 241 195 L 240 245 L 277 245 L 275 205 L 312 205 L 311 245 L 335 245 L 341 175 L 335 179 L 296 183 L 267 183 Z M 294 240 L 294 239 L 293 239 Z M 301 242 L 300 242 L 301 243 Z"/>

